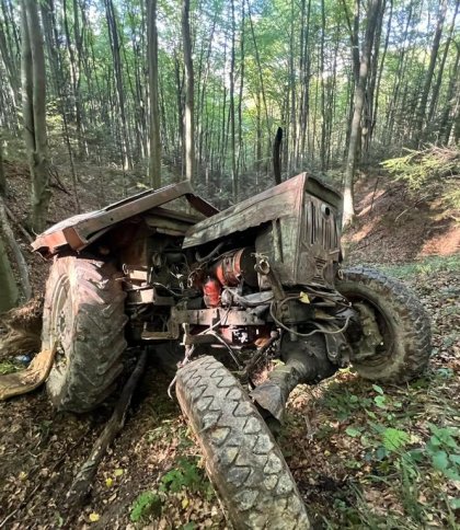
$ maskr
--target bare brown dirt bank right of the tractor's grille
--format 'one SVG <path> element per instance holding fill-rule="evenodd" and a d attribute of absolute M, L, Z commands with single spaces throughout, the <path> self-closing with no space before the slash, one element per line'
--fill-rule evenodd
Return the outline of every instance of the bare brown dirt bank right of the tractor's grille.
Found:
<path fill-rule="evenodd" d="M 422 199 L 422 200 L 421 200 Z M 354 263 L 404 263 L 460 252 L 460 214 L 375 176 L 356 185 L 357 217 L 344 237 Z"/>

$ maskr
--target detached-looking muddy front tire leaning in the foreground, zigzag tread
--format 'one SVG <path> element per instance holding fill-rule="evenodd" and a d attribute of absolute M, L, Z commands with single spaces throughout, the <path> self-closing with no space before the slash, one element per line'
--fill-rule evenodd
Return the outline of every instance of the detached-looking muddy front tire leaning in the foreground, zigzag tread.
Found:
<path fill-rule="evenodd" d="M 237 529 L 310 528 L 279 447 L 237 379 L 212 357 L 177 372 L 176 393 Z"/>

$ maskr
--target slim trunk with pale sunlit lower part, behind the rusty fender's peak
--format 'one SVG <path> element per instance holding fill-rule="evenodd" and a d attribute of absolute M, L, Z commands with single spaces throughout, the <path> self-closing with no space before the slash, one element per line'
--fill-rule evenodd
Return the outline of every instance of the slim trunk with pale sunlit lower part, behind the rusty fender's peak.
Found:
<path fill-rule="evenodd" d="M 195 131 L 194 131 L 194 74 L 192 61 L 192 39 L 189 24 L 189 0 L 182 0 L 182 42 L 185 65 L 185 177 L 194 180 L 195 166 Z"/>

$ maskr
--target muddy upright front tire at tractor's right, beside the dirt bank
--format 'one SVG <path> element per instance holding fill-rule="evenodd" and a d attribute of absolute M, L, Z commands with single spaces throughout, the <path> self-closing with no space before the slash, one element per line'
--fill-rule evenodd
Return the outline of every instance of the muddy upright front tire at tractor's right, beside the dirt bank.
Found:
<path fill-rule="evenodd" d="M 356 371 L 366 379 L 393 383 L 419 376 L 428 364 L 432 334 L 428 314 L 415 295 L 367 267 L 345 269 L 336 288 L 363 323 L 363 338 L 354 344 Z"/>

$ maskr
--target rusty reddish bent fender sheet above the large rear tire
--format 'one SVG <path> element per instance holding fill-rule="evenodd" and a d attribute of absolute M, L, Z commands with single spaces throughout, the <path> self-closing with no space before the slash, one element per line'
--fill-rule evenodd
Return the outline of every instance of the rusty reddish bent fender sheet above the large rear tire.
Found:
<path fill-rule="evenodd" d="M 142 192 L 114 203 L 102 210 L 70 217 L 38 235 L 32 243 L 32 247 L 45 255 L 53 255 L 66 245 L 76 251 L 81 251 L 118 222 L 183 196 L 196 211 L 204 216 L 212 216 L 218 211 L 214 206 L 196 196 L 189 183 L 184 181 L 157 191 Z M 192 216 L 181 216 L 187 217 L 188 223 L 197 220 Z"/>

